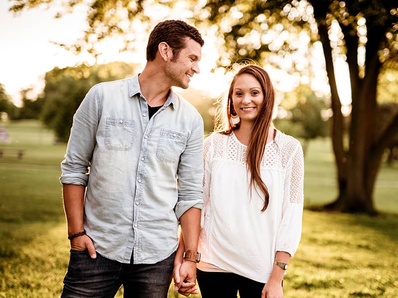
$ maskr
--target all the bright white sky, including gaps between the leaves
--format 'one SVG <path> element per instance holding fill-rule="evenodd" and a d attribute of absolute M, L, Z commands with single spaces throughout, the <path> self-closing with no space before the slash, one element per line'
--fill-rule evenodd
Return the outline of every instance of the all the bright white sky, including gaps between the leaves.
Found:
<path fill-rule="evenodd" d="M 44 74 L 54 67 L 60 68 L 73 66 L 88 57 L 78 58 L 72 53 L 62 49 L 52 42 L 72 44 L 78 37 L 83 36 L 86 28 L 86 11 L 84 6 L 75 8 L 72 14 L 65 14 L 55 19 L 55 9 L 36 7 L 24 10 L 18 15 L 8 11 L 10 2 L 0 0 L 0 83 L 5 87 L 13 101 L 18 104 L 19 91 L 22 88 L 33 87 L 34 93 L 39 93 L 44 88 Z M 183 18 L 181 10 L 169 12 L 169 18 Z M 159 21 L 162 19 L 159 19 Z M 214 34 L 215 35 L 215 34 Z M 219 73 L 211 73 L 217 58 L 216 42 L 213 36 L 204 36 L 205 44 L 202 48 L 202 60 L 199 64 L 201 72 L 195 75 L 191 86 L 196 89 L 206 89 L 211 96 L 218 96 L 228 87 L 229 77 Z M 142 36 L 142 44 L 145 44 L 147 36 Z M 145 48 L 134 56 L 120 56 L 118 54 L 117 41 L 108 43 L 103 48 L 103 55 L 100 63 L 111 61 L 142 62 L 145 63 Z M 321 49 L 319 51 L 320 65 L 324 63 Z M 347 72 L 347 65 L 344 61 L 336 62 L 336 76 L 339 89 L 341 90 L 342 102 L 350 101 L 349 80 L 344 77 Z M 271 77 L 279 74 L 267 69 Z M 294 84 L 285 76 L 285 85 Z M 323 92 L 327 93 L 327 81 L 319 77 Z M 276 86 L 278 88 L 278 86 Z"/>

